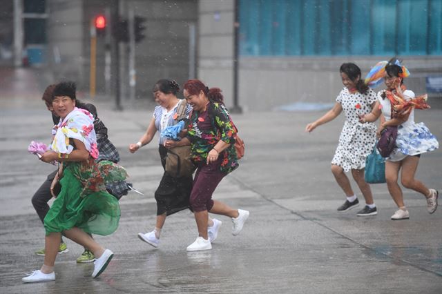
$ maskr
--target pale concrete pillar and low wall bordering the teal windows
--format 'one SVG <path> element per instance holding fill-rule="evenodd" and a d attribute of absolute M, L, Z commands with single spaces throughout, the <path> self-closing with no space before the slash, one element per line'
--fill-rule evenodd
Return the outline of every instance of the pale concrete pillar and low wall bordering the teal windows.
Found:
<path fill-rule="evenodd" d="M 224 92 L 233 105 L 234 0 L 200 0 L 198 77 Z M 334 103 L 343 88 L 339 67 L 355 62 L 363 77 L 387 57 L 241 57 L 238 104 L 244 110 L 272 110 L 295 102 Z M 425 93 L 425 77 L 442 74 L 442 57 L 403 57 L 412 75 L 405 83 L 416 94 Z M 376 90 L 381 89 L 378 88 Z M 439 97 L 441 95 L 431 95 Z"/>

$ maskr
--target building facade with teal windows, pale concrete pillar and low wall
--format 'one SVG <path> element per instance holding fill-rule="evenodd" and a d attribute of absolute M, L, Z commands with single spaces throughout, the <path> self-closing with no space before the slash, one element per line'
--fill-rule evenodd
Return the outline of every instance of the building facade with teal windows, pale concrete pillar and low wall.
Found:
<path fill-rule="evenodd" d="M 409 88 L 441 99 L 442 1 L 238 1 L 238 101 L 246 111 L 334 103 L 343 62 L 355 62 L 365 76 L 394 56 L 412 73 Z M 233 52 L 226 48 L 233 48 L 235 1 L 199 6 L 199 75 L 233 95 Z"/>

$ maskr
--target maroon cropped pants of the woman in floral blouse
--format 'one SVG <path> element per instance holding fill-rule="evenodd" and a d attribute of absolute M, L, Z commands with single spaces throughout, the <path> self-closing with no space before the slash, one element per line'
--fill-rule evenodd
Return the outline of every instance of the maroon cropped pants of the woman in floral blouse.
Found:
<path fill-rule="evenodd" d="M 189 199 L 193 211 L 209 211 L 212 209 L 213 191 L 226 175 L 220 171 L 221 160 L 222 157 L 211 164 L 204 162 L 198 166 L 195 178 L 193 179 L 193 188 Z"/>

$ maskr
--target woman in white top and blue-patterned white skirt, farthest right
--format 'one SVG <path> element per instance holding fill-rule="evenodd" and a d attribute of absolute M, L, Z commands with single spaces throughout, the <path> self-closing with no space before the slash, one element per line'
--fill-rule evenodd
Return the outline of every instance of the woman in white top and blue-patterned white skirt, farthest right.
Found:
<path fill-rule="evenodd" d="M 378 92 L 378 101 L 372 113 L 361 117 L 361 122 L 369 122 L 376 121 L 382 114 L 383 117 L 381 117 L 381 126 L 378 130 L 378 134 L 387 126 L 398 126 L 396 148 L 394 148 L 385 161 L 387 187 L 394 202 L 398 206 L 398 210 L 392 215 L 392 219 L 394 220 L 408 219 L 410 217 L 410 213 L 403 202 L 401 187 L 398 185 L 399 170 L 402 170 L 401 184 L 405 188 L 415 190 L 426 197 L 428 213 L 434 213 L 437 208 L 438 191 L 427 188 L 421 181 L 415 179 L 414 175 L 421 154 L 439 148 L 439 143 L 425 124 L 416 124 L 414 122 L 414 109 L 408 112 L 408 115 L 405 117 L 397 117 L 394 115 L 394 112 L 392 112 L 390 99 L 386 97 L 387 91 L 396 93 L 396 88 L 400 87 L 403 90 L 405 99 L 413 99 L 414 92 L 406 90 L 403 85 L 403 78 L 408 75 L 408 70 L 404 66 L 401 66 L 401 63 L 399 63 L 397 59 L 390 60 L 385 66 L 384 79 L 387 90 Z"/>

